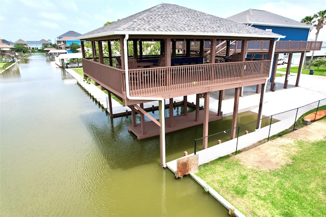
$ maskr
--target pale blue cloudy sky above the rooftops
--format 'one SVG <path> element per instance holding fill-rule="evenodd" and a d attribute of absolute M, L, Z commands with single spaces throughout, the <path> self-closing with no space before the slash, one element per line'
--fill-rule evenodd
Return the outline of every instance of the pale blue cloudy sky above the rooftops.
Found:
<path fill-rule="evenodd" d="M 325 0 L 0 0 L 0 39 L 15 42 L 51 40 L 70 30 L 85 34 L 161 3 L 175 4 L 227 18 L 257 9 L 296 21 L 325 10 Z M 315 39 L 313 29 L 309 39 Z M 326 26 L 318 36 L 326 41 Z"/>

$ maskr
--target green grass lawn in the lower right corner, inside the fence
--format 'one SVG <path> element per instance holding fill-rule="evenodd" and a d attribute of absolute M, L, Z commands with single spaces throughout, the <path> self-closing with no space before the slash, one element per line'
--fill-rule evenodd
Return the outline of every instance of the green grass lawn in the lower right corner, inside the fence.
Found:
<path fill-rule="evenodd" d="M 326 117 L 318 122 L 325 127 Z M 197 175 L 246 216 L 326 216 L 326 138 L 307 141 L 290 136 L 279 137 L 287 141 L 284 147 L 267 148 L 284 149 L 277 156 L 289 161 L 279 168 L 248 166 L 226 156 L 201 165 Z M 278 139 L 274 144 L 281 143 Z"/>

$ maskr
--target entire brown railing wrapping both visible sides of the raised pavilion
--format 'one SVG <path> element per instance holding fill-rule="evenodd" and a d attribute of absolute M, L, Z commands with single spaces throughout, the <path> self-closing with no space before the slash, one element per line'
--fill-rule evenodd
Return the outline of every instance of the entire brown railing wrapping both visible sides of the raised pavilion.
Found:
<path fill-rule="evenodd" d="M 131 69 L 129 70 L 130 96 L 162 96 L 172 92 L 175 95 L 178 91 L 190 93 L 219 85 L 262 80 L 268 77 L 269 67 L 270 60 L 259 60 Z M 86 76 L 123 98 L 124 70 L 85 58 L 83 68 Z"/>

